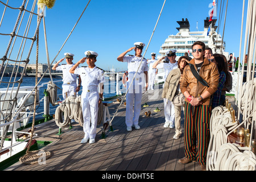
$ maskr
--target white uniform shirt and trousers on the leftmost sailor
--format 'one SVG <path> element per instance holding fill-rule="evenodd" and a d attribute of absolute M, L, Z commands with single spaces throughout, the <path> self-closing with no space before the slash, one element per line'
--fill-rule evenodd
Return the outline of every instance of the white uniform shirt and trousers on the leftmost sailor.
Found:
<path fill-rule="evenodd" d="M 73 94 L 76 92 L 77 84 L 76 79 L 77 75 L 70 73 L 69 70 L 73 67 L 75 64 L 62 64 L 56 68 L 56 71 L 62 71 L 63 73 L 63 84 L 62 84 L 62 95 L 63 100 L 65 100 L 66 92 L 68 96 L 73 96 Z"/>

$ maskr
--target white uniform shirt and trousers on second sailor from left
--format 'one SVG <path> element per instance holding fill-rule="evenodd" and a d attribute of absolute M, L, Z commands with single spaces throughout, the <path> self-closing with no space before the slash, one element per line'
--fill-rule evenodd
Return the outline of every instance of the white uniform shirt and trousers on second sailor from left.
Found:
<path fill-rule="evenodd" d="M 84 138 L 94 139 L 96 137 L 98 100 L 100 98 L 98 84 L 105 81 L 104 72 L 95 66 L 94 68 L 76 68 L 75 74 L 80 75 L 82 80 L 81 106 L 84 118 Z"/>

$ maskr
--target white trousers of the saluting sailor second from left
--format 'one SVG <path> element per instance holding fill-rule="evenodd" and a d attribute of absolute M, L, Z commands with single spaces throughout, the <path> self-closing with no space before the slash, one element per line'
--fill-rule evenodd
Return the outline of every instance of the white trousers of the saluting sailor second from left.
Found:
<path fill-rule="evenodd" d="M 94 139 L 96 137 L 98 120 L 98 92 L 86 92 L 81 94 L 82 116 L 84 118 L 84 137 Z"/>

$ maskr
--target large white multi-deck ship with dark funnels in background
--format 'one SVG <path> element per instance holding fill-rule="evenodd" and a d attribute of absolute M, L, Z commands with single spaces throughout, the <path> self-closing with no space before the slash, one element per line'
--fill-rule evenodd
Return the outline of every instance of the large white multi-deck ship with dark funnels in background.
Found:
<path fill-rule="evenodd" d="M 182 19 L 177 21 L 180 27 L 177 28 L 179 32 L 176 35 L 169 35 L 168 38 L 164 41 L 163 45 L 160 47 L 160 57 L 165 56 L 165 52 L 168 49 L 176 49 L 176 60 L 180 56 L 184 56 L 185 52 L 189 53 L 189 56 L 192 57 L 192 44 L 196 41 L 201 41 L 205 43 L 205 47 L 212 48 L 213 53 L 222 53 L 228 57 L 228 52 L 225 52 L 225 42 L 222 42 L 222 36 L 216 32 L 217 26 L 215 26 L 217 19 L 213 19 L 209 22 L 209 18 L 204 20 L 204 31 L 190 31 L 190 24 L 188 19 Z M 212 26 L 210 24 L 212 23 Z M 208 29 L 210 27 L 209 35 Z"/>

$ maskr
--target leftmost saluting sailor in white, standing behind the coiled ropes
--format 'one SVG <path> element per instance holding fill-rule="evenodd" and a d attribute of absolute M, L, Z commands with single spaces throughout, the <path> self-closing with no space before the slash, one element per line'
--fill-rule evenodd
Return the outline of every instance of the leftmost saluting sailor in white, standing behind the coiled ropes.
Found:
<path fill-rule="evenodd" d="M 73 67 L 72 60 L 73 54 L 72 53 L 64 53 L 65 57 L 57 61 L 55 65 L 53 65 L 52 70 L 62 71 L 63 72 L 63 84 L 62 84 L 62 95 L 63 100 L 67 98 L 67 96 L 73 96 L 75 92 L 79 92 L 81 86 L 81 78 L 79 76 L 79 84 L 76 84 L 77 75 L 69 73 L 69 70 Z M 59 65 L 64 59 L 66 59 L 67 64 Z M 67 96 L 66 96 L 67 94 Z"/>

